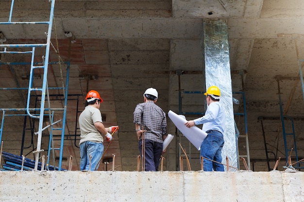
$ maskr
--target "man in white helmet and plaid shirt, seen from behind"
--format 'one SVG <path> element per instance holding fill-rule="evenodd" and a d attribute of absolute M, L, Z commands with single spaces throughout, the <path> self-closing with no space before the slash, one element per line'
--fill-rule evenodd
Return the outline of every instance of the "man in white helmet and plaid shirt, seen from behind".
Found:
<path fill-rule="evenodd" d="M 144 156 L 145 171 L 158 171 L 163 141 L 167 137 L 166 113 L 155 104 L 156 89 L 148 88 L 143 96 L 144 102 L 137 104 L 133 113 L 138 149 Z"/>

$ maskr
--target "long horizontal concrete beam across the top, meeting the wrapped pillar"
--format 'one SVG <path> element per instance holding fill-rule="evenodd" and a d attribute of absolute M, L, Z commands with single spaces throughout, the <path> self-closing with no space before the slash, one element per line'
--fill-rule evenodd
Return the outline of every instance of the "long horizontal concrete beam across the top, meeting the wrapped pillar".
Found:
<path fill-rule="evenodd" d="M 0 21 L 6 19 L 0 18 Z M 37 20 L 37 19 L 36 19 Z M 199 39 L 202 33 L 201 18 L 55 18 L 57 37 L 65 38 L 71 31 L 77 38 L 168 38 Z M 302 18 L 229 18 L 230 39 L 278 38 L 282 34 L 304 35 Z M 1 25 L 7 39 L 45 38 L 44 25 Z M 55 32 L 52 33 L 55 36 Z"/>

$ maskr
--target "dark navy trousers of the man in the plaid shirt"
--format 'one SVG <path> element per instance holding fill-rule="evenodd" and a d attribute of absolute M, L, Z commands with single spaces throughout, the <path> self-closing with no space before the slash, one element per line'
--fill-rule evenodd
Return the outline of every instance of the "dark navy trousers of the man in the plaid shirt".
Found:
<path fill-rule="evenodd" d="M 138 149 L 141 153 L 142 140 L 138 142 Z M 163 143 L 152 140 L 145 140 L 145 171 L 158 171 L 160 156 L 163 151 Z"/>

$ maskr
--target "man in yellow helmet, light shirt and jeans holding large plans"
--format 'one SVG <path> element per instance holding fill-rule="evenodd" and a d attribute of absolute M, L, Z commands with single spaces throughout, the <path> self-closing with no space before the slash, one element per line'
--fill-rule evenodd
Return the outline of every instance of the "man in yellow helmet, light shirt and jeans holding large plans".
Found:
<path fill-rule="evenodd" d="M 225 111 L 220 104 L 220 89 L 210 86 L 206 93 L 207 110 L 201 118 L 187 121 L 185 125 L 192 127 L 203 124 L 202 130 L 208 135 L 201 144 L 201 156 L 203 156 L 204 171 L 224 171 L 221 163 L 221 150 L 224 145 Z M 209 159 L 213 160 L 210 161 Z M 214 162 L 216 161 L 216 162 Z M 217 163 L 220 162 L 220 163 Z"/>

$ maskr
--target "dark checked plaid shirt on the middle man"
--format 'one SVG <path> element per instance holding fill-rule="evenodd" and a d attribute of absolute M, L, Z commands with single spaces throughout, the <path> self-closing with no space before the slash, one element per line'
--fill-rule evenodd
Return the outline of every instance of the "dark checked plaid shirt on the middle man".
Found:
<path fill-rule="evenodd" d="M 163 135 L 167 135 L 167 120 L 165 112 L 152 101 L 140 103 L 134 112 L 134 124 L 144 127 L 145 139 L 155 142 L 163 142 Z M 140 137 L 141 139 L 141 137 Z"/>

